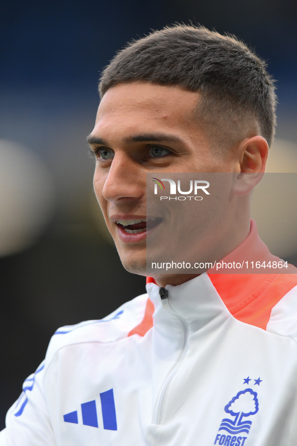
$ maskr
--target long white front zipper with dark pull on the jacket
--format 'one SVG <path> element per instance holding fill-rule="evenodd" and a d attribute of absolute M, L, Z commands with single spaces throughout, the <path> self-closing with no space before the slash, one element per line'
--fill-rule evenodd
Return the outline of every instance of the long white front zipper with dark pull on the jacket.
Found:
<path fill-rule="evenodd" d="M 167 379 L 165 380 L 165 383 L 162 386 L 161 392 L 158 396 L 157 399 L 157 403 L 155 406 L 155 410 L 154 410 L 154 416 L 153 416 L 153 420 L 152 423 L 153 424 L 160 424 L 161 421 L 161 417 L 162 417 L 162 413 L 163 413 L 163 406 L 164 406 L 164 401 L 165 401 L 165 397 L 166 397 L 166 393 L 167 393 L 167 389 L 168 386 L 171 382 L 171 380 L 173 379 L 174 375 L 176 374 L 177 370 L 179 369 L 186 351 L 187 351 L 187 338 L 188 338 L 188 327 L 187 327 L 187 323 L 185 322 L 185 320 L 178 314 L 176 313 L 175 310 L 173 310 L 173 308 L 171 307 L 169 301 L 168 301 L 168 291 L 166 288 L 159 288 L 159 294 L 160 294 L 160 298 L 161 298 L 161 303 L 162 303 L 162 307 L 166 310 L 169 311 L 169 313 L 171 313 L 172 315 L 176 316 L 177 319 L 179 319 L 182 328 L 183 328 L 183 345 L 182 345 L 182 349 L 179 355 L 179 358 L 177 359 L 175 365 L 173 366 L 173 368 L 171 369 Z"/>

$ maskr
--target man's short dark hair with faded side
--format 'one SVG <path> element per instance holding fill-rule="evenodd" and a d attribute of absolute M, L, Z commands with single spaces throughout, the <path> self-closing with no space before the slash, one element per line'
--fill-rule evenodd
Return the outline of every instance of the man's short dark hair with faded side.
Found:
<path fill-rule="evenodd" d="M 217 142 L 235 142 L 251 132 L 270 146 L 276 95 L 267 64 L 235 36 L 203 26 L 173 25 L 134 40 L 104 69 L 101 97 L 121 83 L 145 81 L 200 92 L 199 118 Z"/>

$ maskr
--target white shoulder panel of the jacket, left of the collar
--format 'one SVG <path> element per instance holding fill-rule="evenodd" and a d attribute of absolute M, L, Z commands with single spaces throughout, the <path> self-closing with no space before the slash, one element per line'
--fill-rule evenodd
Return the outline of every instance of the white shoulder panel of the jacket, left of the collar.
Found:
<path fill-rule="evenodd" d="M 143 321 L 148 301 L 148 295 L 141 294 L 103 319 L 59 328 L 49 343 L 46 362 L 50 361 L 57 351 L 70 345 L 109 343 L 128 337 Z"/>

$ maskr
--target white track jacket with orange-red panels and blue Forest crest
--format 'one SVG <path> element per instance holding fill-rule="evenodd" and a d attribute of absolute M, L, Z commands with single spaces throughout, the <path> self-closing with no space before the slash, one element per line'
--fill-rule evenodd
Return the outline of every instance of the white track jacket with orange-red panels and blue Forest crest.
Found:
<path fill-rule="evenodd" d="M 242 247 L 271 256 L 254 226 Z M 149 280 L 110 316 L 60 328 L 0 446 L 296 446 L 296 285 L 272 272 Z"/>

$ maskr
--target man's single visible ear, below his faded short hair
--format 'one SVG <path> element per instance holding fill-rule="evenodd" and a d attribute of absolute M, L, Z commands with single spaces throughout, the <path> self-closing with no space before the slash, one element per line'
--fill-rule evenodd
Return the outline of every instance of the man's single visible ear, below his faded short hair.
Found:
<path fill-rule="evenodd" d="M 268 144 L 262 136 L 244 139 L 240 144 L 240 174 L 234 175 L 235 195 L 249 193 L 262 179 L 267 157 Z"/>

